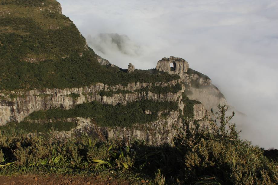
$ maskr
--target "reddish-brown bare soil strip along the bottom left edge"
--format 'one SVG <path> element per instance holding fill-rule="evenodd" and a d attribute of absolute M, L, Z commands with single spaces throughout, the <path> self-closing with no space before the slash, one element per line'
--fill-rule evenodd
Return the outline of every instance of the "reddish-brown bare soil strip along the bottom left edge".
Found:
<path fill-rule="evenodd" d="M 98 179 L 97 177 L 73 177 L 73 176 L 36 176 L 36 175 L 19 175 L 19 176 L 0 176 L 1 185 L 23 184 L 23 185 L 118 185 L 129 184 L 127 182 L 116 182 L 111 177 L 107 180 Z"/>

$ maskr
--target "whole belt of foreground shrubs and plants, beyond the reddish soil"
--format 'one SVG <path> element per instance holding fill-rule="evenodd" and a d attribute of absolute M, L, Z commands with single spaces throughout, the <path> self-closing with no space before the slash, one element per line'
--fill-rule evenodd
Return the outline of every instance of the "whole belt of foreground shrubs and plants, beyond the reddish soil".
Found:
<path fill-rule="evenodd" d="M 81 174 L 141 184 L 277 184 L 277 155 L 242 141 L 226 116 L 227 107 L 212 112 L 208 130 L 198 124 L 176 129 L 171 145 L 150 146 L 144 141 L 100 141 L 88 135 L 57 140 L 0 132 L 0 174 Z M 274 154 L 274 153 L 273 153 Z"/>

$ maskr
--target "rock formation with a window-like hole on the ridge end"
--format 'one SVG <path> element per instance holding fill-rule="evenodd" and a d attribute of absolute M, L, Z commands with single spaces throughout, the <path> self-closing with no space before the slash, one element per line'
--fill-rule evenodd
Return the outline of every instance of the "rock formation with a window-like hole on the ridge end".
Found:
<path fill-rule="evenodd" d="M 170 64 L 173 63 L 173 67 Z M 168 72 L 170 74 L 183 74 L 186 73 L 189 68 L 189 64 L 182 58 L 176 58 L 170 56 L 170 58 L 164 57 L 157 62 L 156 69 L 158 71 Z"/>

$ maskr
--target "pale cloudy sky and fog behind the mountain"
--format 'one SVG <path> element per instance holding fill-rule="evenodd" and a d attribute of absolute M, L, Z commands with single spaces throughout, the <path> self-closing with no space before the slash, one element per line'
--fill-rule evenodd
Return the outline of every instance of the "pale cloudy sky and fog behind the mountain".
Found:
<path fill-rule="evenodd" d="M 95 53 L 123 69 L 185 59 L 247 115 L 242 139 L 278 148 L 277 0 L 59 2 Z"/>

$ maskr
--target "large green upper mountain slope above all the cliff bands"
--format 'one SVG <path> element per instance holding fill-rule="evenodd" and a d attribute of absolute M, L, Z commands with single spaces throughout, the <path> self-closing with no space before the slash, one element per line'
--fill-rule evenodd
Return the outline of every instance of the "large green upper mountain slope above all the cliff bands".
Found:
<path fill-rule="evenodd" d="M 72 21 L 59 14 L 56 1 L 44 1 L 41 10 L 35 2 L 36 6 L 28 2 L 1 1 L 0 90 L 179 79 L 178 75 L 159 74 L 156 70 L 126 73 L 118 67 L 100 65 Z"/>

